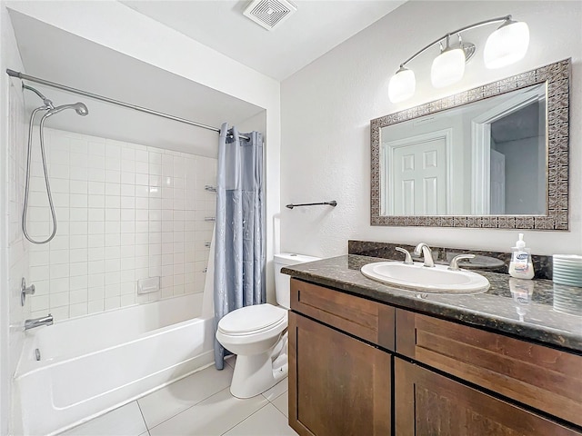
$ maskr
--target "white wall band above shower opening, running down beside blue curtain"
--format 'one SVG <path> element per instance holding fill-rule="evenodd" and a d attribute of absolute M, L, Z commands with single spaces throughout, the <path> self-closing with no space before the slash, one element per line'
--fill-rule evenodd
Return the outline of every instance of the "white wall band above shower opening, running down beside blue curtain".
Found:
<path fill-rule="evenodd" d="M 280 87 L 255 70 L 115 1 L 6 2 L 11 9 L 266 109 L 266 235 L 280 204 Z M 217 139 L 216 139 L 217 141 Z M 267 245 L 267 261 L 273 244 Z M 267 269 L 267 289 L 274 275 Z"/>

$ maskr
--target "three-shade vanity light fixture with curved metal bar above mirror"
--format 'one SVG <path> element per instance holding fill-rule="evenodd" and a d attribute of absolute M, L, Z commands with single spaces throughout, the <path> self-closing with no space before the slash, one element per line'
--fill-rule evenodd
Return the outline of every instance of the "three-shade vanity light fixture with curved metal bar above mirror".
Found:
<path fill-rule="evenodd" d="M 430 70 L 431 83 L 436 88 L 457 83 L 465 74 L 465 64 L 473 57 L 476 51 L 474 44 L 463 42 L 461 33 L 482 25 L 500 22 L 502 25 L 487 38 L 484 50 L 485 66 L 489 69 L 501 68 L 523 59 L 529 45 L 529 28 L 526 23 L 513 21 L 511 15 L 506 15 L 481 21 L 474 25 L 467 25 L 455 32 L 441 36 L 400 64 L 400 68 L 390 78 L 388 84 L 388 98 L 390 101 L 392 103 L 402 102 L 415 94 L 416 77 L 412 70 L 406 68 L 406 64 L 419 54 L 426 52 L 433 45 L 438 44 L 440 46 L 440 54 L 433 61 Z M 457 41 L 453 45 L 451 39 L 455 35 L 457 36 Z M 443 47 L 443 42 L 445 42 L 445 47 Z"/>

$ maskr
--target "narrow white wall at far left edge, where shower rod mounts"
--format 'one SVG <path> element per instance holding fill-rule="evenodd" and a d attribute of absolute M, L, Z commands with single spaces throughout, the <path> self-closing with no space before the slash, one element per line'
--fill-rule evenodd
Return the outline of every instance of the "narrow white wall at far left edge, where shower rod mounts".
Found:
<path fill-rule="evenodd" d="M 25 172 L 25 106 L 20 81 L 5 69 L 22 68 L 15 35 L 0 5 L 0 434 L 8 434 L 12 376 L 30 312 L 20 305 L 20 280 L 28 271 L 28 250 L 20 229 Z M 15 420 L 17 421 L 17 420 Z"/>

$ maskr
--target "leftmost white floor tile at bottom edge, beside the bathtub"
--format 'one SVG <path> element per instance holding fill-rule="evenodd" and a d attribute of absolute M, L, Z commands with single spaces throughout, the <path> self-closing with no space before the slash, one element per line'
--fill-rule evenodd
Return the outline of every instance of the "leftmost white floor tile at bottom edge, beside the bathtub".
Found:
<path fill-rule="evenodd" d="M 61 436 L 137 436 L 147 432 L 137 402 L 133 401 L 115 411 L 65 431 Z"/>

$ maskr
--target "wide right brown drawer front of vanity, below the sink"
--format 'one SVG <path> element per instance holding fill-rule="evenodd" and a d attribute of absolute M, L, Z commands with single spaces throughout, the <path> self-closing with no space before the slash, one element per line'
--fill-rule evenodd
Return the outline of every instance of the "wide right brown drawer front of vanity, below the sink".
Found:
<path fill-rule="evenodd" d="M 582 357 L 396 310 L 396 352 L 582 426 Z"/>

